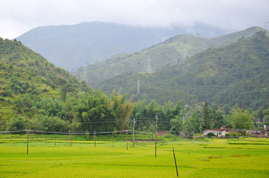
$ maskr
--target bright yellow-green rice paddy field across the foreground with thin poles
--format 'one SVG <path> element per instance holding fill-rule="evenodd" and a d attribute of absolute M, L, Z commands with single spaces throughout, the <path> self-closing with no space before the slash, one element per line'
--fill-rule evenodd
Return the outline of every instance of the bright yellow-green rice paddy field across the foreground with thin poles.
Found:
<path fill-rule="evenodd" d="M 0 135 L 0 178 L 269 178 L 269 139 L 127 143 Z M 69 145 L 69 147 L 68 147 Z M 174 154 L 173 154 L 174 148 Z"/>

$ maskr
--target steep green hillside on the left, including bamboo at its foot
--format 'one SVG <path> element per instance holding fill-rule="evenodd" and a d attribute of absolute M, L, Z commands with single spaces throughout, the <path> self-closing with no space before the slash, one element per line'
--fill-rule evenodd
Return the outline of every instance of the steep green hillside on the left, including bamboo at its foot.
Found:
<path fill-rule="evenodd" d="M 108 98 L 21 42 L 0 38 L 0 130 L 126 129 L 132 108 L 125 96 Z"/>

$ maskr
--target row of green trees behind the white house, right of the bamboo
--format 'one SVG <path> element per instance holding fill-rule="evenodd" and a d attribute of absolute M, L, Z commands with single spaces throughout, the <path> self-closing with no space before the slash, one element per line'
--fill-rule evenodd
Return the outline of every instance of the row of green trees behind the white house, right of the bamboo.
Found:
<path fill-rule="evenodd" d="M 259 123 L 257 112 L 246 107 L 240 109 L 238 104 L 230 108 L 227 104 L 208 105 L 207 102 L 194 106 L 183 106 L 182 100 L 175 105 L 169 101 L 163 106 L 155 100 L 146 104 L 146 99 L 138 100 L 131 118 L 135 118 L 138 124 L 136 130 L 153 132 L 156 127 L 156 116 L 158 116 L 158 130 L 170 131 L 177 134 L 180 131 L 191 133 L 202 133 L 204 129 L 219 129 L 221 126 L 229 126 L 231 129 L 263 129 Z M 269 124 L 269 109 L 263 111 L 264 124 Z M 131 128 L 132 125 L 130 125 Z"/>

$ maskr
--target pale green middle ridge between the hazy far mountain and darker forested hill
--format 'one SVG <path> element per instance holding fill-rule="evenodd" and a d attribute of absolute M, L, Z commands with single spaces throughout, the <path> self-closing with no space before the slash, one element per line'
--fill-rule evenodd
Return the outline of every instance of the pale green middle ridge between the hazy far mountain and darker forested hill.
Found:
<path fill-rule="evenodd" d="M 188 57 L 209 47 L 218 47 L 237 42 L 242 37 L 251 37 L 254 33 L 264 30 L 260 27 L 252 27 L 241 32 L 225 36 L 207 39 L 191 35 L 177 35 L 164 42 L 143 50 L 142 52 L 119 54 L 104 62 L 87 66 L 87 78 L 85 79 L 85 68 L 80 68 L 76 76 L 86 80 L 91 86 L 95 86 L 113 76 L 124 72 L 133 71 L 147 72 L 148 58 L 151 59 L 152 72 L 160 70 L 176 63 L 185 61 Z"/>

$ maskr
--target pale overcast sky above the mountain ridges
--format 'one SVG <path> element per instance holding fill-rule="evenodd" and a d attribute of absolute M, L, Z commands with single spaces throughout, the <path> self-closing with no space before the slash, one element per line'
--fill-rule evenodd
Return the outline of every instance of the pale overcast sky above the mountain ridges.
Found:
<path fill-rule="evenodd" d="M 0 37 L 39 26 L 91 21 L 169 27 L 193 21 L 244 30 L 265 28 L 269 0 L 0 0 Z"/>

